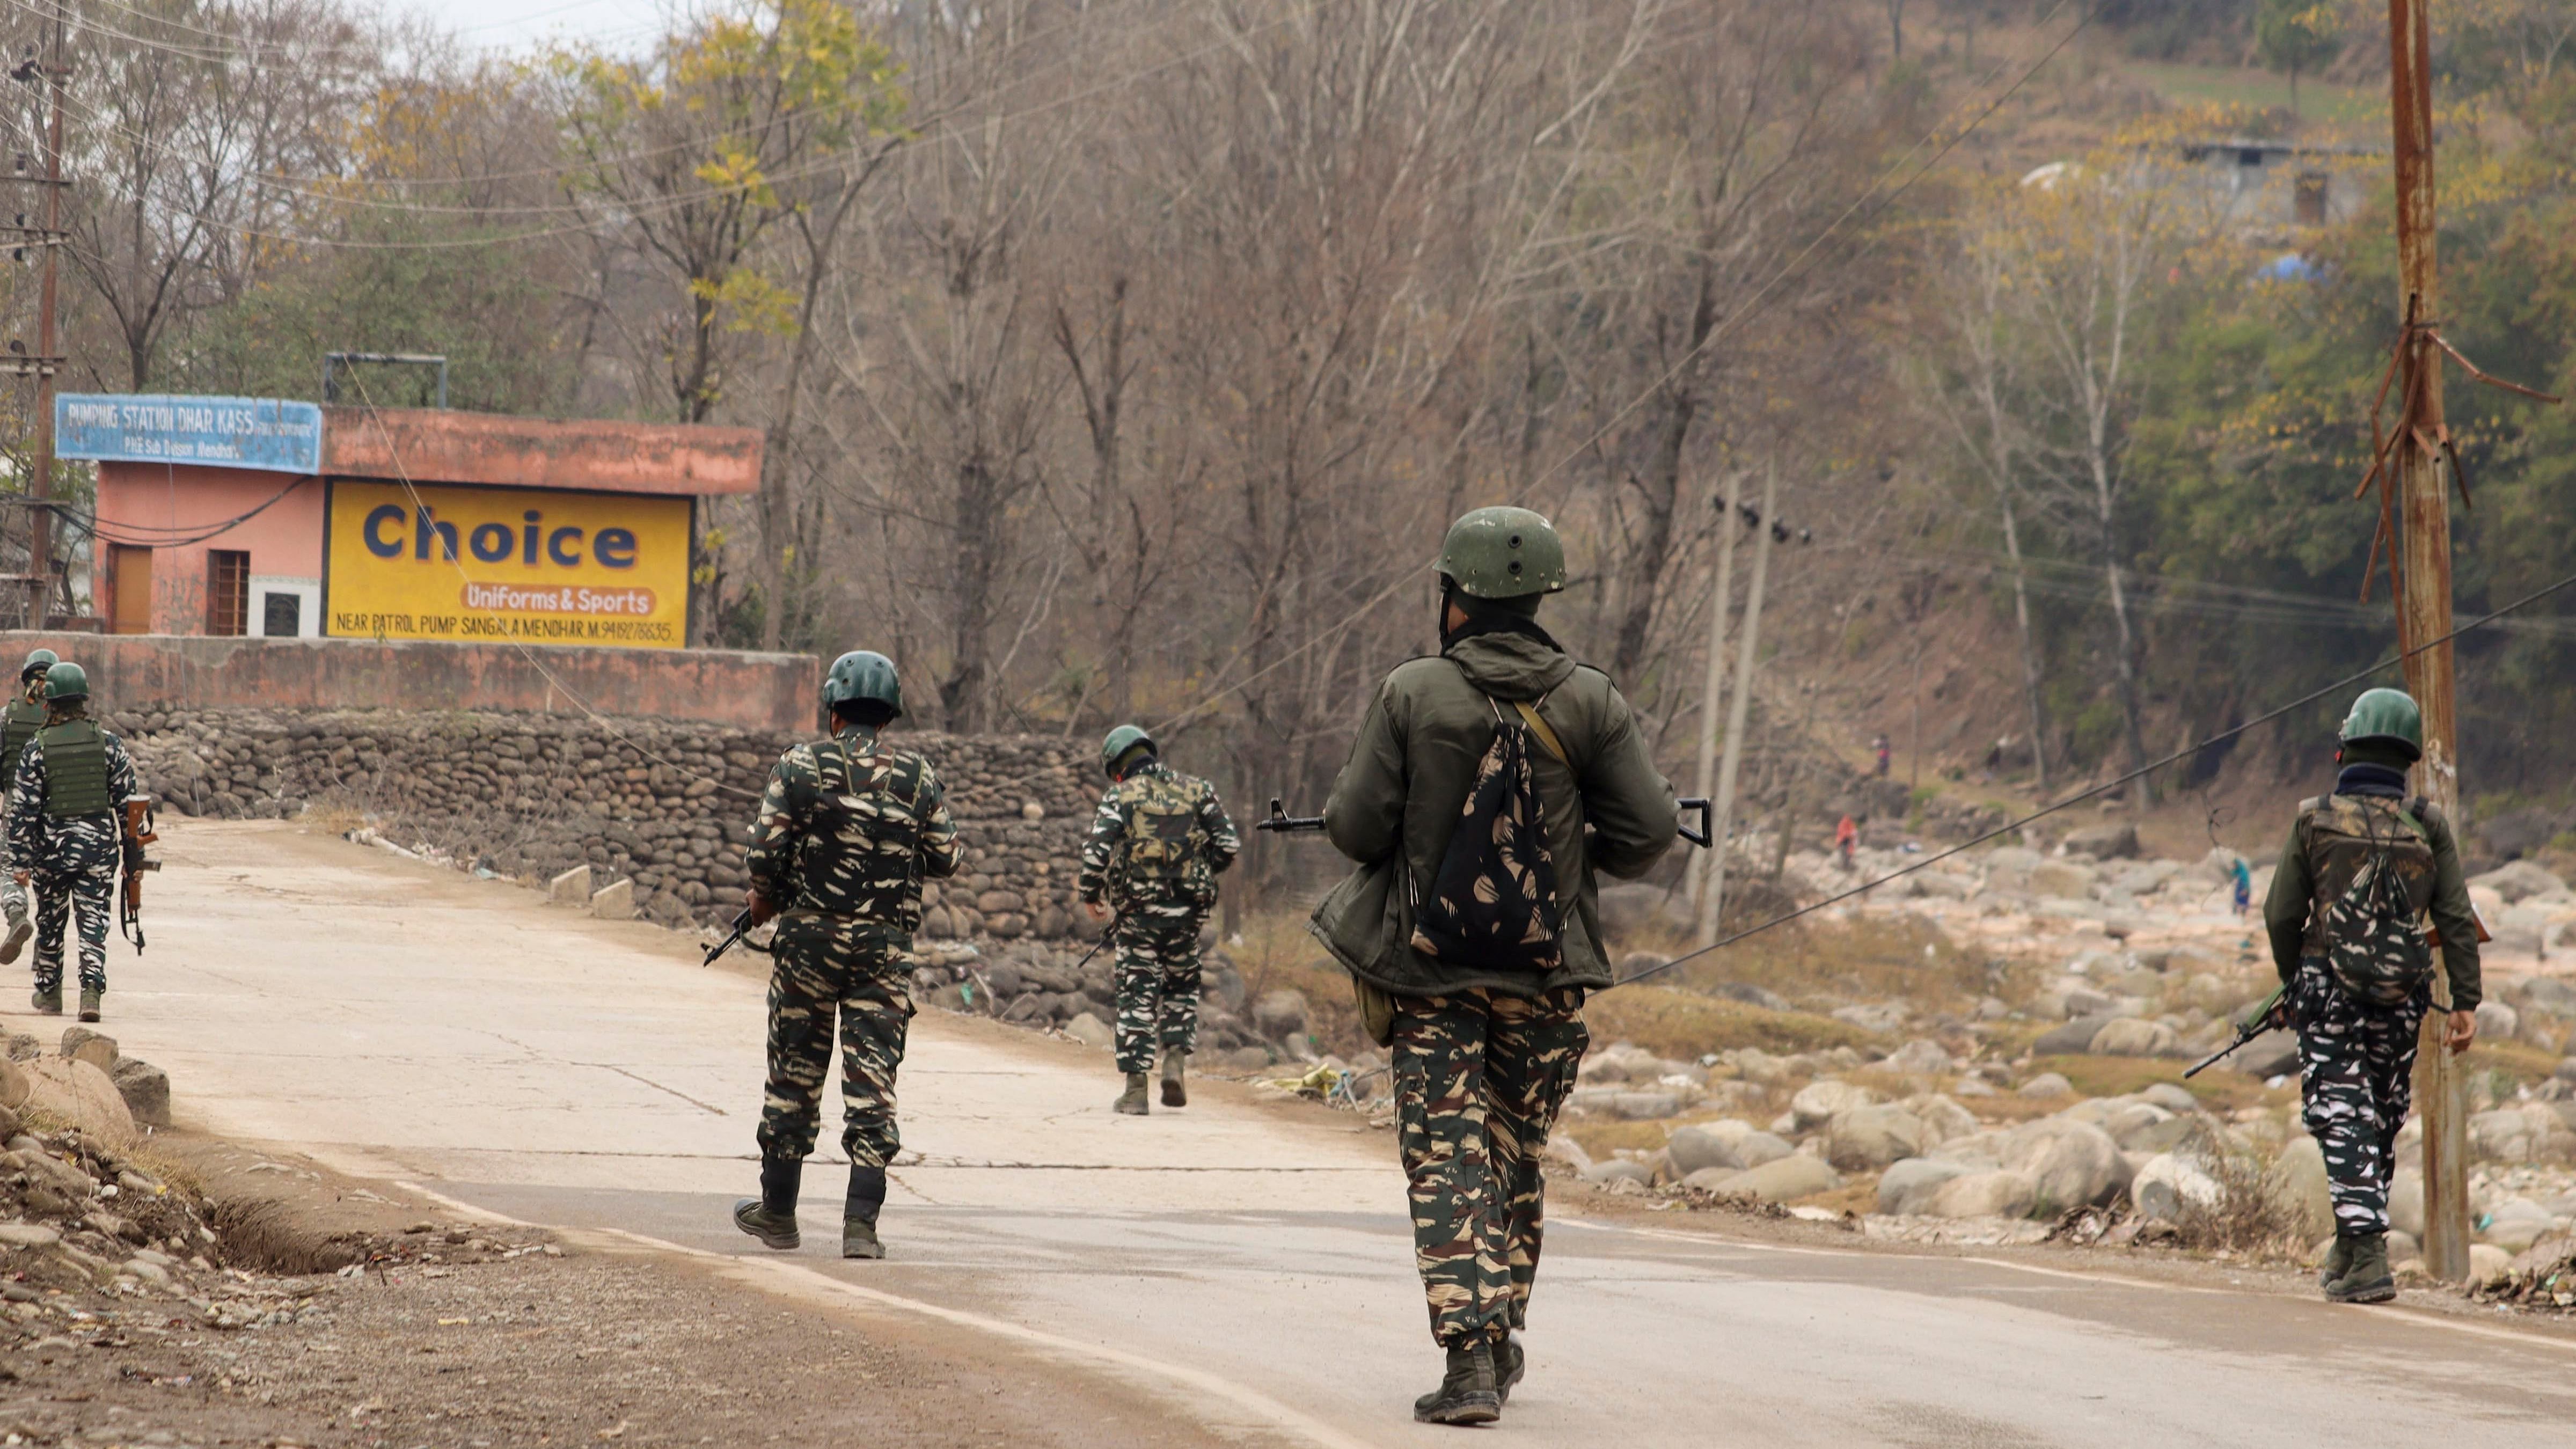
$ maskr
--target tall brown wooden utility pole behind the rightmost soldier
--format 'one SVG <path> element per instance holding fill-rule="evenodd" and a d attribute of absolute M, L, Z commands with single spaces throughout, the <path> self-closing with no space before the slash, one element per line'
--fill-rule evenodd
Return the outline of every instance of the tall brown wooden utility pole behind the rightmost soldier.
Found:
<path fill-rule="evenodd" d="M 2401 425 L 2442 438 L 2442 353 L 2434 286 L 2432 188 L 2432 23 L 2427 0 L 2388 0 L 2388 90 L 2396 150 Z M 2424 712 L 2416 792 L 2460 817 L 2460 735 L 2452 712 L 2450 642 L 2450 477 L 2439 454 L 2398 438 L 2396 601 L 2406 694 Z M 2424 639 L 2445 639 L 2414 652 Z M 2447 1047 L 2450 977 L 2434 977 L 2434 1008 L 2416 1049 L 2416 1111 L 2424 1114 L 2424 1269 L 2468 1279 L 2468 1104 Z"/>

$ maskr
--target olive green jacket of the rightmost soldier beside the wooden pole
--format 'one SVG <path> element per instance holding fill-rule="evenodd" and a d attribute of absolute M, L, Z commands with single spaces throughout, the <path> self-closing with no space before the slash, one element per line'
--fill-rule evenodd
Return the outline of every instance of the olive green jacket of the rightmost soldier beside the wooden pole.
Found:
<path fill-rule="evenodd" d="M 2460 843 L 2450 833 L 2450 820 L 2427 802 L 2326 794 L 2300 804 L 2262 902 L 2272 967 L 2280 980 L 2290 980 L 2300 957 L 2326 954 L 2326 908 L 2383 846 L 2393 846 L 2391 856 L 2409 902 L 2442 933 L 2452 1011 L 2476 1011 L 2486 995 L 2478 975 L 2478 918 L 2468 905 Z"/>

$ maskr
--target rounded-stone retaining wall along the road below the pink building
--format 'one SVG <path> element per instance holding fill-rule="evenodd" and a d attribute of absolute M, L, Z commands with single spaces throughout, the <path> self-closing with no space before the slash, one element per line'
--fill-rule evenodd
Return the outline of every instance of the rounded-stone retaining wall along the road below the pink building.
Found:
<path fill-rule="evenodd" d="M 636 913 L 716 923 L 742 905 L 742 838 L 770 766 L 811 737 L 721 724 L 394 709 L 134 709 L 108 714 L 144 789 L 211 817 L 335 810 L 389 843 L 546 879 L 587 864 L 634 879 Z M 899 730 L 948 786 L 966 866 L 933 882 L 922 936 L 1066 938 L 1097 784 L 1043 735 Z"/>

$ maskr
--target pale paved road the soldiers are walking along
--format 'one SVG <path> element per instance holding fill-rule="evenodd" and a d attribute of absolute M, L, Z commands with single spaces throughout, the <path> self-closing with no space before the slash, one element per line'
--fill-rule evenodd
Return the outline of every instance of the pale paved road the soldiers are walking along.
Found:
<path fill-rule="evenodd" d="M 752 1253 L 760 982 L 289 825 L 183 825 L 111 1031 L 209 1129 L 518 1220 Z M 121 946 L 118 946 L 121 951 Z M 23 1024 L 13 1018 L 13 1024 Z M 1234 1088 L 1108 1111 L 1105 1057 L 927 1013 L 886 1263 L 840 1263 L 809 1168 L 783 1289 L 935 1315 L 1278 1444 L 1455 1444 L 1386 1134 Z M 1558 1220 L 1533 1444 L 2568 1444 L 2576 1341 L 2027 1261 Z"/>

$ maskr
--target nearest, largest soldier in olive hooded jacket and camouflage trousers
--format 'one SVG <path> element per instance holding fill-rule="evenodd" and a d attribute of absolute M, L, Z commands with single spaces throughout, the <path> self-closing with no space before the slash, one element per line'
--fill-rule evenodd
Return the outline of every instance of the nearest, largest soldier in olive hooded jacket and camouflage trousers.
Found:
<path fill-rule="evenodd" d="M 1448 1354 L 1427 1423 L 1489 1423 L 1520 1379 L 1546 1217 L 1540 1150 L 1574 1088 L 1587 990 L 1610 985 L 1595 871 L 1636 877 L 1672 846 L 1680 810 L 1610 676 L 1538 627 L 1564 588 L 1564 544 L 1528 508 L 1479 508 L 1440 549 L 1440 655 L 1378 686 L 1324 830 L 1358 861 L 1314 913 L 1350 969 L 1360 1016 L 1394 1049 L 1396 1145 L 1414 1266 Z M 1528 709 L 1530 773 L 1561 920 L 1556 964 L 1528 969 L 1422 951 L 1414 902 L 1437 879 L 1499 722 Z"/>

